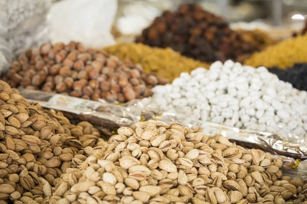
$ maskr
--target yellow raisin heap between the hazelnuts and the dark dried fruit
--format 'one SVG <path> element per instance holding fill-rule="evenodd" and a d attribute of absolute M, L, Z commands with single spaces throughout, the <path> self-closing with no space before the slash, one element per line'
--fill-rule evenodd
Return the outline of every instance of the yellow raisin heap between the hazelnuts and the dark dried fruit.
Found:
<path fill-rule="evenodd" d="M 170 81 L 179 77 L 181 72 L 190 72 L 198 67 L 210 65 L 182 56 L 170 47 L 150 47 L 141 43 L 118 43 L 104 48 L 110 55 L 121 60 L 130 60 L 142 65 L 146 73 L 157 73 L 158 77 Z"/>

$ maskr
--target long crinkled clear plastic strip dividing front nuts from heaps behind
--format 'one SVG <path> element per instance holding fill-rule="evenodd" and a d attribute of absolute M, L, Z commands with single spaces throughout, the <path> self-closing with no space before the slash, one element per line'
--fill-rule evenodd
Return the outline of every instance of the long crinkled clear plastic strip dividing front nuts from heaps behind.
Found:
<path fill-rule="evenodd" d="M 69 119 L 86 120 L 93 123 L 106 136 L 115 134 L 119 127 L 130 126 L 138 121 L 155 119 L 164 123 L 180 122 L 185 126 L 201 127 L 208 135 L 221 134 L 230 141 L 246 148 L 258 148 L 270 152 L 283 160 L 284 175 L 307 179 L 307 146 L 304 143 L 292 143 L 293 136 L 287 129 L 280 127 L 280 132 L 266 133 L 250 131 L 220 125 L 212 122 L 194 120 L 166 112 L 161 115 L 144 109 L 139 100 L 132 100 L 125 106 L 109 104 L 104 100 L 93 101 L 67 95 L 21 89 L 20 94 L 30 102 L 40 103 L 42 107 L 63 111 Z M 66 113 L 66 114 L 65 114 Z"/>

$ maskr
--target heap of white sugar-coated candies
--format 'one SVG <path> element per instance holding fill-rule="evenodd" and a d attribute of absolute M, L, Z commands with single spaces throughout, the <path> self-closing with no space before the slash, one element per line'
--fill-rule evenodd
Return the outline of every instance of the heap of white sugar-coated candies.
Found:
<path fill-rule="evenodd" d="M 209 70 L 197 68 L 181 73 L 172 84 L 156 86 L 142 102 L 193 119 L 268 132 L 282 125 L 300 138 L 307 136 L 307 92 L 280 81 L 265 67 L 214 62 Z"/>

